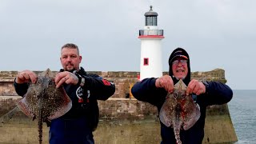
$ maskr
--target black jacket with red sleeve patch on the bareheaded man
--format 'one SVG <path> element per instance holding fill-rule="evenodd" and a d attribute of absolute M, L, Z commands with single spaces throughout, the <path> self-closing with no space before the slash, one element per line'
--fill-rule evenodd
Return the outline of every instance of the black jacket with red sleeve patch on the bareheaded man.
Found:
<path fill-rule="evenodd" d="M 60 70 L 63 71 L 63 70 Z M 98 125 L 98 102 L 97 100 L 106 100 L 114 94 L 114 83 L 99 77 L 97 74 L 86 74 L 86 71 L 81 67 L 78 74 L 85 78 L 85 85 L 74 86 L 63 84 L 66 94 L 72 100 L 72 108 L 61 118 L 80 118 L 86 117 L 90 122 L 92 130 Z M 18 84 L 14 82 L 14 88 L 18 95 L 24 96 L 29 87 L 28 83 Z M 89 98 L 88 98 L 88 94 Z M 83 102 L 78 102 L 78 97 L 83 99 Z"/>

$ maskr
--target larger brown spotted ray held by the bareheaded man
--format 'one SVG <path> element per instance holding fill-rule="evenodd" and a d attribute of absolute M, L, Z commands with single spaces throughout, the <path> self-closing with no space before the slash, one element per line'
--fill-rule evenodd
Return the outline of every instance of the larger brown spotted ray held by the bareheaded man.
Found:
<path fill-rule="evenodd" d="M 30 83 L 17 106 L 2 118 L 10 119 L 18 111 L 22 111 L 33 120 L 37 118 L 39 144 L 42 144 L 42 123 L 61 117 L 72 107 L 72 101 L 63 86 L 56 88 L 54 76 L 50 69 L 38 74 L 37 82 Z"/>

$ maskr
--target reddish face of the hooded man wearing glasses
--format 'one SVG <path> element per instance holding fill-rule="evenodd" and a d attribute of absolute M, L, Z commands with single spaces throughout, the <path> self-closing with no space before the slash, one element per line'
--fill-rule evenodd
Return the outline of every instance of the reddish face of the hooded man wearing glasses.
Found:
<path fill-rule="evenodd" d="M 175 78 L 186 78 L 188 73 L 187 60 L 185 58 L 176 58 L 172 62 L 172 70 Z"/>

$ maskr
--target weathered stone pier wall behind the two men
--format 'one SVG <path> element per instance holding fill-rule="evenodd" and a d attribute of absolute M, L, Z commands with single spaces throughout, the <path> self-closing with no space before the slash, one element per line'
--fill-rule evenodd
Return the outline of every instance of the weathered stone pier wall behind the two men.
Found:
<path fill-rule="evenodd" d="M 40 71 L 36 71 L 39 73 Z M 158 111 L 146 102 L 140 102 L 130 94 L 130 88 L 138 82 L 139 72 L 101 72 L 90 73 L 101 75 L 115 83 L 116 92 L 107 101 L 98 101 L 100 122 L 94 132 L 97 143 L 159 143 L 161 141 Z M 14 90 L 13 82 L 17 71 L 0 72 L 0 117 L 14 108 L 19 97 Z M 163 74 L 168 74 L 164 72 Z M 225 71 L 215 69 L 207 72 L 193 72 L 191 78 L 200 80 L 226 82 Z M 1 121 L 1 119 L 0 119 Z M 128 124 L 127 122 L 128 121 Z M 145 124 L 146 127 L 139 128 Z M 146 122 L 145 122 L 146 121 Z M 10 123 L 15 123 L 11 125 Z M 125 122 L 125 123 L 123 123 Z M 135 123 L 134 123 L 135 122 Z M 36 143 L 37 124 L 26 118 L 21 112 L 8 123 L 0 123 L 0 143 Z M 17 124 L 18 123 L 18 124 Z M 138 131 L 143 131 L 137 134 Z M 111 133 L 110 133 L 111 132 Z M 30 136 L 27 136 L 27 135 Z M 118 138 L 125 137 L 125 138 Z M 44 126 L 44 140 L 47 143 L 48 128 Z M 233 143 L 238 139 L 230 119 L 227 105 L 209 106 L 207 108 L 205 138 L 203 143 Z"/>

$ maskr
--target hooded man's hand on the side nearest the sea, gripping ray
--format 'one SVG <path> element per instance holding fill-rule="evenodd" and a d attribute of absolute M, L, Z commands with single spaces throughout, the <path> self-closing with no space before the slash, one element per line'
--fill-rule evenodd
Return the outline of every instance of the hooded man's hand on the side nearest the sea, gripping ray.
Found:
<path fill-rule="evenodd" d="M 197 95 L 204 94 L 206 93 L 206 86 L 202 82 L 192 79 L 189 85 L 187 86 L 186 94 L 189 95 L 192 93 Z"/>

